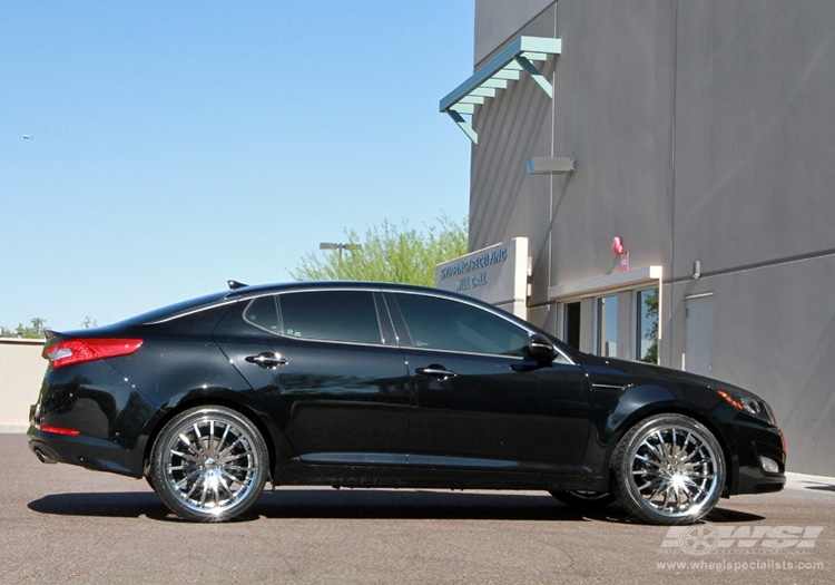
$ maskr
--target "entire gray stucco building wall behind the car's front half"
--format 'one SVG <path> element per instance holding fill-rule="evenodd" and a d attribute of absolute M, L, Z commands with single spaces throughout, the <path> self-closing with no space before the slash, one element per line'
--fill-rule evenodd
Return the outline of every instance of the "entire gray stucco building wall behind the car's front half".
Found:
<path fill-rule="evenodd" d="M 714 374 L 772 402 L 790 470 L 835 475 L 835 2 L 475 7 L 475 67 L 520 35 L 562 53 L 553 99 L 523 78 L 474 116 L 471 248 L 529 237 L 530 315 L 557 331 L 549 286 L 617 272 L 620 236 L 630 266 L 664 266 L 674 368 L 686 298 L 713 293 Z M 534 156 L 577 170 L 527 175 Z"/>

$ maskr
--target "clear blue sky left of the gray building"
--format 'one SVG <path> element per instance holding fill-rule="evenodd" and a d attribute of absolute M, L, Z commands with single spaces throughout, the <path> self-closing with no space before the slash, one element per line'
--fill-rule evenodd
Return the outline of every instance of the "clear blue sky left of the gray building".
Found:
<path fill-rule="evenodd" d="M 3 2 L 0 325 L 289 280 L 469 205 L 472 0 Z M 31 136 L 31 138 L 24 138 Z"/>

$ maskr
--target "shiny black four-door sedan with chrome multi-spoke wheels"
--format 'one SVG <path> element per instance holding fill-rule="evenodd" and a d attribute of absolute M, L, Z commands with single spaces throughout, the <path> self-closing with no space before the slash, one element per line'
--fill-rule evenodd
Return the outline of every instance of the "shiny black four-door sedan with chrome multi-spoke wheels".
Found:
<path fill-rule="evenodd" d="M 381 283 L 245 286 L 49 333 L 31 408 L 45 462 L 145 477 L 191 520 L 274 485 L 542 489 L 689 524 L 777 491 L 768 404 L 598 358 L 489 304 Z"/>

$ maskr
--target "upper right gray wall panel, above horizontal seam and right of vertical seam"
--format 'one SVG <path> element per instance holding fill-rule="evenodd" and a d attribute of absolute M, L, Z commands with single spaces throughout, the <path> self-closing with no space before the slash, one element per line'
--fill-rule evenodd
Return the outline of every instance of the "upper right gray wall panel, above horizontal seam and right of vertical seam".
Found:
<path fill-rule="evenodd" d="M 833 252 L 835 2 L 679 2 L 675 275 Z"/>

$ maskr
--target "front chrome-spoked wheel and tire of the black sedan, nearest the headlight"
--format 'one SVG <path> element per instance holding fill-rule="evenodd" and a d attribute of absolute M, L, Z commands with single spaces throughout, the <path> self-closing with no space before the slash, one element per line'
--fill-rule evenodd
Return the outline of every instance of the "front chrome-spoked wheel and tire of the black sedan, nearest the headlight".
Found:
<path fill-rule="evenodd" d="M 658 415 L 632 427 L 615 450 L 612 469 L 620 505 L 649 524 L 694 524 L 725 488 L 719 441 L 684 415 Z"/>

